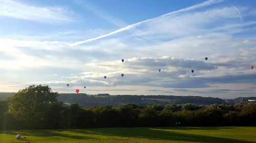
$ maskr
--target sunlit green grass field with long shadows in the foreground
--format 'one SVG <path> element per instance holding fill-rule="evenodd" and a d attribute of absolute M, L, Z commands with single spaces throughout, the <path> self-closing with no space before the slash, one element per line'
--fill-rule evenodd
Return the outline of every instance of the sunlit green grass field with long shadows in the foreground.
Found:
<path fill-rule="evenodd" d="M 27 139 L 15 139 L 17 133 Z M 256 142 L 256 127 L 97 128 L 0 131 L 0 142 Z"/>

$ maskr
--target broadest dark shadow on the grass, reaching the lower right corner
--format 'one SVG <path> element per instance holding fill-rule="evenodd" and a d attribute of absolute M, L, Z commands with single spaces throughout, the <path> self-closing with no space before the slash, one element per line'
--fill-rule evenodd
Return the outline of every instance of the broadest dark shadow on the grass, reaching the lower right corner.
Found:
<path fill-rule="evenodd" d="M 173 131 L 166 131 L 163 128 L 101 128 L 101 129 L 90 129 L 90 132 L 82 129 L 76 129 L 72 131 L 77 133 L 84 133 L 84 134 L 99 134 L 99 135 L 119 136 L 119 137 L 135 137 L 135 138 L 146 138 L 146 139 L 153 139 L 153 140 L 175 140 L 175 141 L 187 141 L 187 142 L 194 141 L 194 142 L 208 142 L 208 143 L 214 143 L 214 142 L 253 143 L 254 142 L 254 141 L 245 141 L 245 140 L 214 137 L 214 136 L 207 136 L 207 135 L 177 133 Z"/>

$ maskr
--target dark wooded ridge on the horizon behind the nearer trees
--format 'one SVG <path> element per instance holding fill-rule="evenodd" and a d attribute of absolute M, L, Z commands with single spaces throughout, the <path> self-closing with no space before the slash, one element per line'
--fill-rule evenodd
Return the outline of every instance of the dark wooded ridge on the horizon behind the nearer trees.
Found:
<path fill-rule="evenodd" d="M 7 99 L 15 93 L 0 93 L 0 100 Z M 58 101 L 63 103 L 78 103 L 84 107 L 113 105 L 118 106 L 126 103 L 135 103 L 146 106 L 152 104 L 186 104 L 192 103 L 195 105 L 210 105 L 210 104 L 226 104 L 233 105 L 236 103 L 248 104 L 248 100 L 256 101 L 256 97 L 238 97 L 235 99 L 221 99 L 214 97 L 201 96 L 165 96 L 165 95 L 87 95 L 87 94 L 59 94 Z"/>

